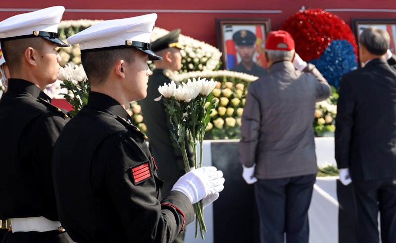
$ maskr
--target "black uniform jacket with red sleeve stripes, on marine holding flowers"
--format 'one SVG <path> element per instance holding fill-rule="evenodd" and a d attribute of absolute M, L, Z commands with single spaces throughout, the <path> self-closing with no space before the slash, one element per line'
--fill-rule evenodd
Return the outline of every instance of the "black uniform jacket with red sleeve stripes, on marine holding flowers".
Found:
<path fill-rule="evenodd" d="M 144 134 L 111 97 L 90 92 L 63 129 L 53 154 L 62 226 L 76 242 L 172 242 L 193 221 L 190 200 L 163 201 Z"/>

